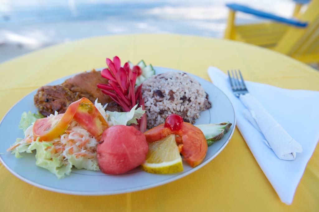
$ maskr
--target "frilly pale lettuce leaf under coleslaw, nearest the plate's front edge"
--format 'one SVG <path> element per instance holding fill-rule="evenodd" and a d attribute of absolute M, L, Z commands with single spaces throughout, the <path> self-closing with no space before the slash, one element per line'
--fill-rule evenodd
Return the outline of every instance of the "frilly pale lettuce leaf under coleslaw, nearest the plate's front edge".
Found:
<path fill-rule="evenodd" d="M 58 179 L 69 175 L 71 172 L 72 164 L 63 161 L 63 155 L 52 155 L 51 149 L 48 147 L 53 146 L 52 143 L 35 141 L 29 146 L 29 150 L 36 150 L 35 164 L 42 168 L 49 170 L 55 174 Z M 46 150 L 47 149 L 47 150 Z"/>

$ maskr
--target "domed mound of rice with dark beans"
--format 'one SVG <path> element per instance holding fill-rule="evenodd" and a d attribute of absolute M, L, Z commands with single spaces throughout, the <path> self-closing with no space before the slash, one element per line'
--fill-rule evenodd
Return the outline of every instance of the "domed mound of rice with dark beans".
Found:
<path fill-rule="evenodd" d="M 194 124 L 201 111 L 211 108 L 202 86 L 182 72 L 166 72 L 148 78 L 143 83 L 142 95 L 149 129 L 163 124 L 172 113 Z"/>

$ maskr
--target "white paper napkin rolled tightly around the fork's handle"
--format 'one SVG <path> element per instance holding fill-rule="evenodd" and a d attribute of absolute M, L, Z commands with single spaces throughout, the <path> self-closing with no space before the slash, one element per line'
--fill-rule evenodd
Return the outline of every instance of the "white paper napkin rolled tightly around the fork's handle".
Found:
<path fill-rule="evenodd" d="M 302 152 L 301 145 L 286 132 L 254 96 L 247 93 L 240 95 L 239 99 L 248 108 L 277 157 L 283 160 L 293 160 L 296 152 Z"/>

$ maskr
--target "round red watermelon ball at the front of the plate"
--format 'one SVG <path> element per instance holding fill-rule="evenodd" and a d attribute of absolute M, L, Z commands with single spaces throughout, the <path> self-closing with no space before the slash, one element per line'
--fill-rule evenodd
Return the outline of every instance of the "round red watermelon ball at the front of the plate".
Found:
<path fill-rule="evenodd" d="M 142 164 L 148 152 L 145 135 L 132 126 L 116 125 L 104 130 L 97 145 L 100 170 L 122 174 Z"/>

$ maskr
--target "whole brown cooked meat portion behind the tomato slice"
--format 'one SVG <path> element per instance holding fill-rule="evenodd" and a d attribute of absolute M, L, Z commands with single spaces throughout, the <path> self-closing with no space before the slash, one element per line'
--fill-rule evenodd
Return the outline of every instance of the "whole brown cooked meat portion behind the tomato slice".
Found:
<path fill-rule="evenodd" d="M 90 72 L 75 75 L 61 85 L 41 87 L 34 96 L 34 105 L 42 115 L 48 116 L 54 111 L 64 113 L 72 102 L 82 97 L 92 102 L 98 98 L 102 105 L 112 101 L 108 95 L 97 88 L 98 83 L 108 83 L 107 79 L 101 77 L 100 71 L 93 69 Z"/>

